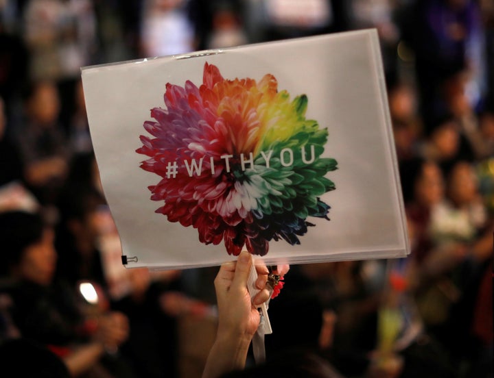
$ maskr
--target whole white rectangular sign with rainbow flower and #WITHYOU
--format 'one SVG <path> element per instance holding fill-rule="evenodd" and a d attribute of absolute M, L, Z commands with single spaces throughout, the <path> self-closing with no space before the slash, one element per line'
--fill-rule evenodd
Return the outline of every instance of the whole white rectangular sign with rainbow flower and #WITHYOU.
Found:
<path fill-rule="evenodd" d="M 408 254 L 375 30 L 83 68 L 128 266 Z"/>

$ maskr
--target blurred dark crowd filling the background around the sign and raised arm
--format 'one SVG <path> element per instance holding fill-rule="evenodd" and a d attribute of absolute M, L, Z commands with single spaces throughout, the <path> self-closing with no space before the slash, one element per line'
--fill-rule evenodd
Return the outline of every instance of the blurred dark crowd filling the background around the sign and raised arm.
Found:
<path fill-rule="evenodd" d="M 0 375 L 199 377 L 214 339 L 217 268 L 121 266 L 81 66 L 369 27 L 412 253 L 292 266 L 268 357 L 493 377 L 492 0 L 1 0 Z"/>

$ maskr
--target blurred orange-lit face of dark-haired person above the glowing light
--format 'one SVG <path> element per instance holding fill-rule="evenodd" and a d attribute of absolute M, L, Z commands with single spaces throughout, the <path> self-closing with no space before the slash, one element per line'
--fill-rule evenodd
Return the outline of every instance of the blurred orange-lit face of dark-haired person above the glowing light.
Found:
<path fill-rule="evenodd" d="M 47 286 L 51 283 L 55 268 L 54 231 L 45 229 L 41 240 L 25 249 L 16 273 L 21 279 Z"/>

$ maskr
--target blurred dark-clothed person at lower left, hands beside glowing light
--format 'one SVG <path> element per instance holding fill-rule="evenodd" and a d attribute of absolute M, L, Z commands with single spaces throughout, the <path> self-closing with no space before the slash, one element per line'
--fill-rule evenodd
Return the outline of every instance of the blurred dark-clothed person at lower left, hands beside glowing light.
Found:
<path fill-rule="evenodd" d="M 12 319 L 23 338 L 47 346 L 73 376 L 132 377 L 123 360 L 106 353 L 126 340 L 126 316 L 100 309 L 87 317 L 82 299 L 54 280 L 54 230 L 41 216 L 0 213 L 0 242 L 5 257 L 2 275 L 10 279 L 2 290 L 12 297 Z"/>

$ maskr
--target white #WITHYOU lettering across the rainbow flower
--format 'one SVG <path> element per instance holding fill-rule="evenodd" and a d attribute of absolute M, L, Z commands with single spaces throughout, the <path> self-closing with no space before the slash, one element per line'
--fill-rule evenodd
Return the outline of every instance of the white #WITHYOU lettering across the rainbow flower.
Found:
<path fill-rule="evenodd" d="M 266 164 L 267 168 L 270 168 L 270 161 L 273 158 L 272 156 L 273 151 L 270 150 L 267 153 L 265 151 L 260 152 L 260 157 L 256 159 L 256 162 L 258 162 L 259 159 L 263 159 L 264 163 Z M 223 160 L 224 163 L 224 169 L 226 170 L 226 173 L 229 173 L 231 171 L 231 166 L 235 164 L 235 166 L 239 166 L 242 171 L 245 171 L 247 168 L 252 168 L 255 170 L 255 164 L 254 164 L 254 156 L 251 153 L 246 156 L 246 154 L 241 153 L 239 157 L 236 157 L 234 155 L 221 155 L 220 159 Z M 307 158 L 307 154 L 305 152 L 305 146 L 301 147 L 301 159 L 304 164 L 311 164 L 316 160 L 316 153 L 314 152 L 314 145 L 310 146 L 310 157 Z M 185 169 L 189 175 L 189 177 L 192 177 L 194 174 L 197 176 L 200 176 L 202 174 L 202 162 L 204 161 L 204 156 L 201 157 L 200 159 L 190 159 L 190 160 L 183 160 L 183 163 L 185 166 Z M 233 162 L 233 164 L 231 164 Z M 282 149 L 279 154 L 279 162 L 281 166 L 292 166 L 294 164 L 294 151 L 292 149 Z M 258 162 L 259 163 L 259 162 Z M 211 169 L 211 175 L 215 174 L 215 164 L 219 164 L 218 162 L 215 162 L 214 157 L 209 157 L 209 168 Z M 170 178 L 175 178 L 176 175 L 178 174 L 178 163 L 175 162 L 167 162 L 166 166 L 166 173 L 165 176 L 167 179 Z"/>

